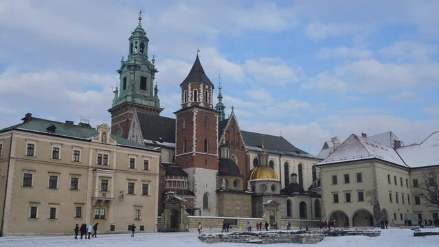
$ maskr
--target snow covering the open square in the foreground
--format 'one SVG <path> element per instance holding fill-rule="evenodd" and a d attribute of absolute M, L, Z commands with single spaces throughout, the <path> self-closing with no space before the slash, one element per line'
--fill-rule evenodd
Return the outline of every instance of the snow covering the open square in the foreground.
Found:
<path fill-rule="evenodd" d="M 379 229 L 381 230 L 381 229 Z M 439 228 L 428 228 L 423 231 L 439 232 Z M 130 233 L 98 235 L 96 239 L 74 239 L 71 236 L 37 236 L 37 237 L 0 237 L 0 246 L 32 246 L 32 247 L 57 247 L 57 246 L 210 246 L 210 247 L 229 247 L 229 246 L 258 246 L 260 244 L 204 244 L 199 241 L 198 233 L 139 233 L 131 237 Z M 410 229 L 390 228 L 381 230 L 379 237 L 348 236 L 348 237 L 325 237 L 322 242 L 312 244 L 312 246 L 324 247 L 372 247 L 372 246 L 438 246 L 439 235 L 428 237 L 414 237 Z M 303 246 L 302 244 L 275 244 L 276 247 Z M 270 245 L 271 246 L 271 245 Z"/>

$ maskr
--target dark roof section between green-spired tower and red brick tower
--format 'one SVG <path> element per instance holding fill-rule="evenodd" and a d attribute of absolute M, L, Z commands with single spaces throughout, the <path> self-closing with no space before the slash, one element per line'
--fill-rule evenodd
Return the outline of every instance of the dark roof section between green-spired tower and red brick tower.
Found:
<path fill-rule="evenodd" d="M 175 119 L 146 113 L 137 113 L 137 117 L 144 139 L 175 143 Z"/>

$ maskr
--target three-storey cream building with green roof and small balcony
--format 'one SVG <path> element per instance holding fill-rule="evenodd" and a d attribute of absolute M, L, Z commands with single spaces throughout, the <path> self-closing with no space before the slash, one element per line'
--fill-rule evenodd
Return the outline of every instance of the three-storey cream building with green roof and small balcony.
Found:
<path fill-rule="evenodd" d="M 160 153 L 97 129 L 38 119 L 0 130 L 1 235 L 153 232 Z"/>

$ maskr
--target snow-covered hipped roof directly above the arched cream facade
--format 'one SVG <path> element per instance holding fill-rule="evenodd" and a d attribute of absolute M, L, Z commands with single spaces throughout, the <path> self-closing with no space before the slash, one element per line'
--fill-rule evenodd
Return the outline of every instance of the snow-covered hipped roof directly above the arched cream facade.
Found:
<path fill-rule="evenodd" d="M 368 158 L 378 158 L 382 161 L 407 167 L 393 148 L 389 148 L 364 137 L 359 137 L 356 134 L 351 134 L 346 141 L 341 143 L 341 145 L 324 161 L 319 163 L 319 165 Z"/>

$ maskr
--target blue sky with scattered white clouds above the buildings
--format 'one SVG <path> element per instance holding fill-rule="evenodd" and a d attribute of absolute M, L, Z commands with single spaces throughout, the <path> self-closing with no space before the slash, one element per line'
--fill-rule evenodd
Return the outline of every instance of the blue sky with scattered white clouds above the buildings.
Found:
<path fill-rule="evenodd" d="M 139 10 L 165 117 L 199 49 L 241 130 L 306 152 L 352 133 L 409 144 L 439 130 L 439 1 L 401 0 L 0 0 L 0 128 L 25 113 L 110 123 Z"/>

